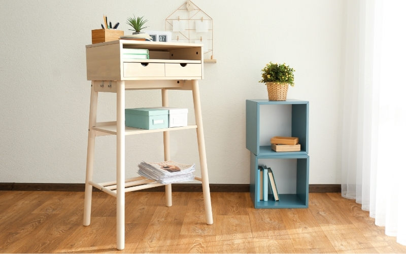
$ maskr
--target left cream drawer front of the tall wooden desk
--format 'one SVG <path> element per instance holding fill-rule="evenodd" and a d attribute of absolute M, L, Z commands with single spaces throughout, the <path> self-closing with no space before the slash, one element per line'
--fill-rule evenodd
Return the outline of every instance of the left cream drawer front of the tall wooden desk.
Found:
<path fill-rule="evenodd" d="M 164 63 L 123 63 L 124 77 L 165 77 Z"/>

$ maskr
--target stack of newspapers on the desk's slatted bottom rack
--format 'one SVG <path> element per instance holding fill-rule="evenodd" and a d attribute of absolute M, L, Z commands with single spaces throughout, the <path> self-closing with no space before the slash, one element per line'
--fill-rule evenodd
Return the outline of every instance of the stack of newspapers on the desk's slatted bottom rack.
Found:
<path fill-rule="evenodd" d="M 138 164 L 141 176 L 155 180 L 160 184 L 187 182 L 194 179 L 195 165 L 181 164 L 175 161 L 141 162 Z"/>

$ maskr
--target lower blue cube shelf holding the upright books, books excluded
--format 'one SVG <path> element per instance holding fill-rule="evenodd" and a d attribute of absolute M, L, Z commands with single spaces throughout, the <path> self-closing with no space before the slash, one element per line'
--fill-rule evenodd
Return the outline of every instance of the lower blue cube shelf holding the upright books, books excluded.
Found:
<path fill-rule="evenodd" d="M 270 167 L 280 201 L 274 201 L 268 190 L 268 200 L 259 200 L 258 165 Z M 309 205 L 309 156 L 255 156 L 251 153 L 250 194 L 255 208 L 307 208 Z"/>

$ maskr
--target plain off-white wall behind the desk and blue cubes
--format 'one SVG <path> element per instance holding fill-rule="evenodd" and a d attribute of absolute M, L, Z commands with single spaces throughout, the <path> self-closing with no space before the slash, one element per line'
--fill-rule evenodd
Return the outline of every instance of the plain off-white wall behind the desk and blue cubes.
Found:
<path fill-rule="evenodd" d="M 127 17 L 151 30 L 184 0 L 2 1 L 0 17 L 0 182 L 84 183 L 90 81 L 85 45 L 103 14 L 130 34 Z M 310 184 L 340 184 L 342 0 L 194 3 L 214 20 L 216 64 L 200 81 L 210 183 L 248 184 L 245 100 L 267 98 L 258 83 L 269 61 L 296 69 L 288 98 L 310 101 Z M 189 108 L 191 92 L 170 91 Z M 159 106 L 160 90 L 131 91 L 126 107 Z M 99 94 L 98 121 L 114 121 L 115 94 Z M 189 122 L 194 122 L 191 120 Z M 115 136 L 96 139 L 94 179 L 115 178 Z M 196 163 L 194 130 L 171 132 L 172 159 Z M 141 160 L 163 159 L 162 133 L 126 137 L 126 176 Z M 200 172 L 196 172 L 200 175 Z"/>

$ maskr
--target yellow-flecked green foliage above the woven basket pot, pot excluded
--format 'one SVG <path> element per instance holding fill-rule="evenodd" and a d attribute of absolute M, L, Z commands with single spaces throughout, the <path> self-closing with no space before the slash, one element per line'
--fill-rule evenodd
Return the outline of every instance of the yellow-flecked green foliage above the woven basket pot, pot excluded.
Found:
<path fill-rule="evenodd" d="M 272 63 L 269 62 L 265 65 L 262 71 L 262 80 L 260 80 L 260 83 L 265 83 L 266 82 L 275 82 L 279 84 L 289 84 L 292 87 L 295 85 L 294 83 L 294 75 L 293 71 L 295 71 L 293 68 L 289 67 L 289 65 L 286 65 L 285 63 L 283 64 L 278 64 L 278 63 Z"/>

